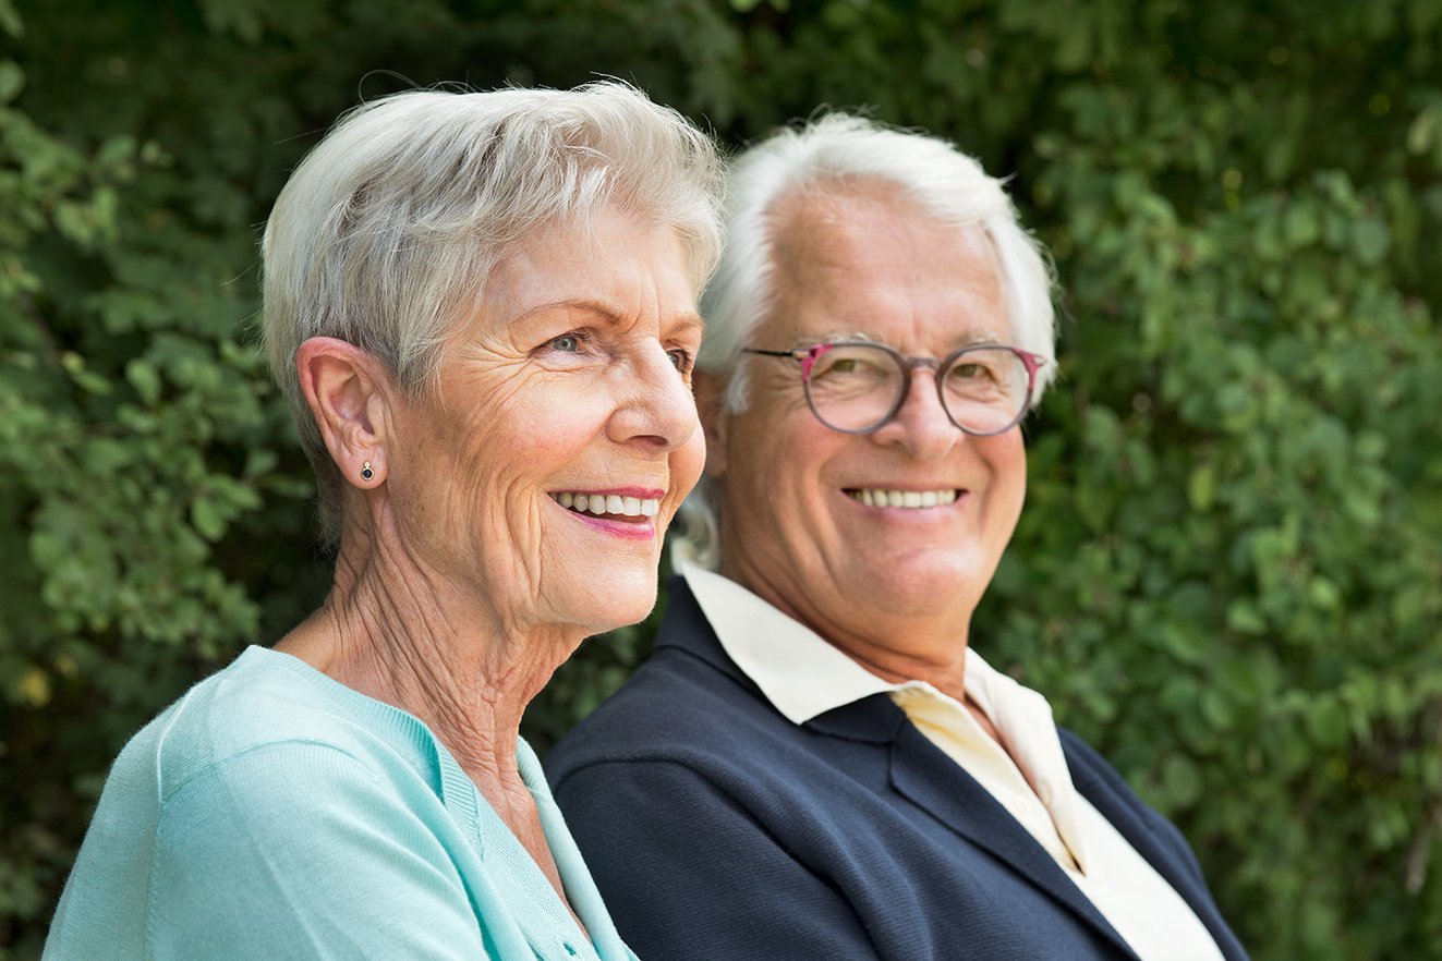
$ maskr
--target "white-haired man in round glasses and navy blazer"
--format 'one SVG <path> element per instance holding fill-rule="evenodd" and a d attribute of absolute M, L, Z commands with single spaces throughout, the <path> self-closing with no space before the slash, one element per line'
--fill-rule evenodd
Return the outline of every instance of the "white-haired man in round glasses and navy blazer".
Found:
<path fill-rule="evenodd" d="M 832 115 L 731 186 L 702 523 L 655 657 L 548 768 L 620 931 L 668 960 L 1244 958 L 1177 828 L 968 645 L 1054 370 L 1001 184 Z"/>

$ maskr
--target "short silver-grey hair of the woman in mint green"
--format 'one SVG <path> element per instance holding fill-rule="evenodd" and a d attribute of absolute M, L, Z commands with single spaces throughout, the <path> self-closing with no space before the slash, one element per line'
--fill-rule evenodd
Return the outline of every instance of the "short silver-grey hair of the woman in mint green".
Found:
<path fill-rule="evenodd" d="M 711 140 L 626 84 L 414 91 L 346 114 L 291 174 L 262 242 L 265 352 L 316 468 L 326 540 L 343 480 L 300 392 L 303 341 L 346 340 L 421 390 L 496 264 L 609 205 L 675 229 L 699 291 L 721 248 L 718 189 Z"/>

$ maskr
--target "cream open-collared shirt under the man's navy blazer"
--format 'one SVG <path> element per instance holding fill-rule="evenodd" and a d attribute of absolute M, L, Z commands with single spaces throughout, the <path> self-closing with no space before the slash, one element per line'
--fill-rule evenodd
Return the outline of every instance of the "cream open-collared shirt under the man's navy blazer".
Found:
<path fill-rule="evenodd" d="M 694 565 L 681 572 L 721 647 L 790 722 L 885 693 L 1025 827 L 1142 961 L 1221 961 L 1187 902 L 1071 784 L 1051 705 L 968 648 L 972 712 L 926 681 L 894 684 L 741 585 Z"/>

